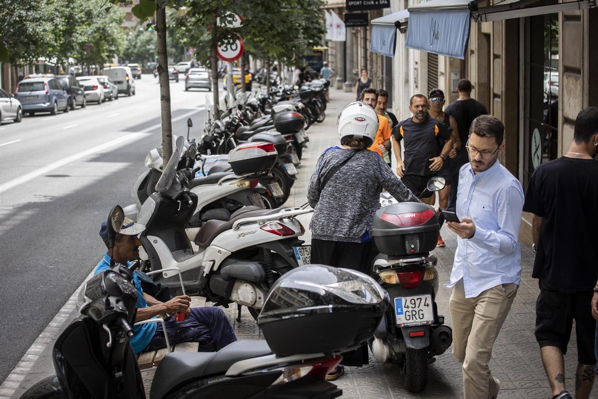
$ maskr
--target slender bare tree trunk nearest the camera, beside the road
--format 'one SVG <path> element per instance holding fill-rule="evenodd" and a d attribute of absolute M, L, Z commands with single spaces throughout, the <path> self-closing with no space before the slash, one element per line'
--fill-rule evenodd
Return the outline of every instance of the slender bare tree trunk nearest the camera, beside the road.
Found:
<path fill-rule="evenodd" d="M 158 27 L 158 79 L 160 80 L 160 111 L 162 117 L 162 158 L 164 168 L 172 155 L 172 115 L 170 114 L 170 80 L 168 77 L 168 55 L 166 53 L 166 5 L 156 7 Z"/>

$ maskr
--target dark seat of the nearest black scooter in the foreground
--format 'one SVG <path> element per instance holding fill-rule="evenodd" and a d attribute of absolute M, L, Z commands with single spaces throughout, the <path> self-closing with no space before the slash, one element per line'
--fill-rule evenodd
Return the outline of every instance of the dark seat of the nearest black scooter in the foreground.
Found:
<path fill-rule="evenodd" d="M 155 370 L 149 397 L 163 398 L 181 383 L 224 374 L 237 361 L 271 355 L 265 340 L 243 339 L 218 352 L 172 352 Z"/>

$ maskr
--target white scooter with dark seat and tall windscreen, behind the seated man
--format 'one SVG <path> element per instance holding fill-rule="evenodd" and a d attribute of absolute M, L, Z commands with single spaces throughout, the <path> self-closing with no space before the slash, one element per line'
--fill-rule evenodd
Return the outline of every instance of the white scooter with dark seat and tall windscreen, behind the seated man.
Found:
<path fill-rule="evenodd" d="M 168 278 L 180 273 L 188 294 L 224 306 L 245 305 L 257 316 L 271 284 L 292 268 L 309 263 L 311 248 L 298 239 L 305 230 L 296 217 L 313 210 L 242 208 L 229 221 L 208 221 L 194 238 L 199 246 L 194 253 L 185 233 L 197 207 L 197 195 L 187 188 L 194 173 L 177 171 L 183 141 L 182 137 L 176 140 L 155 186 L 157 192 L 139 211 L 139 223 L 146 227 L 140 239 L 151 269 L 164 270 L 156 281 L 176 290 L 177 284 Z M 231 162 L 233 167 L 236 162 Z"/>

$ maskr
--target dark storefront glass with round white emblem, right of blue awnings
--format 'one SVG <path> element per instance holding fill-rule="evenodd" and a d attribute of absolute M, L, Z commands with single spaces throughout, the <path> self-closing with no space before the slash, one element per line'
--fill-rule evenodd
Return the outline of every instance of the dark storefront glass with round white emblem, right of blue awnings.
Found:
<path fill-rule="evenodd" d="M 557 158 L 559 133 L 559 14 L 526 19 L 523 184 L 541 163 Z"/>

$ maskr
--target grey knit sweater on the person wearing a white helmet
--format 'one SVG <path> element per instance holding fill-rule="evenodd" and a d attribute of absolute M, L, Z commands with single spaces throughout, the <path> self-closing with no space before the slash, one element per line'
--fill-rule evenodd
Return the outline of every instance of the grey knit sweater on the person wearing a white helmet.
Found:
<path fill-rule="evenodd" d="M 382 157 L 369 150 L 358 151 L 321 190 L 322 179 L 353 151 L 357 150 L 331 147 L 318 160 L 307 189 L 315 209 L 309 225 L 315 239 L 362 242 L 371 236 L 383 187 L 399 202 L 419 202 Z"/>

